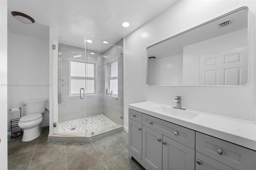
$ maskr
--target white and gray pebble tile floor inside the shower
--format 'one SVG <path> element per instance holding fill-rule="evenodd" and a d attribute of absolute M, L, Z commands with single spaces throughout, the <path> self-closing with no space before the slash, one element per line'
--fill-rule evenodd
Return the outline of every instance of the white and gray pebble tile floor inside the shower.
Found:
<path fill-rule="evenodd" d="M 85 120 L 86 132 L 89 135 L 91 135 L 92 132 L 97 132 L 99 130 L 114 127 L 117 125 L 106 116 L 97 115 L 58 123 L 58 133 L 85 133 Z"/>

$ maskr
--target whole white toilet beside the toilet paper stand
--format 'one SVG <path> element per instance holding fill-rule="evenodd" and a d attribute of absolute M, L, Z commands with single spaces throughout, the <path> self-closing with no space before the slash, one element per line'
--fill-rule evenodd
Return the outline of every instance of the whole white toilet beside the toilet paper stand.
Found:
<path fill-rule="evenodd" d="M 42 122 L 42 114 L 45 111 L 48 99 L 34 99 L 23 101 L 25 116 L 20 118 L 18 126 L 22 128 L 22 141 L 34 140 L 40 135 L 39 124 Z"/>

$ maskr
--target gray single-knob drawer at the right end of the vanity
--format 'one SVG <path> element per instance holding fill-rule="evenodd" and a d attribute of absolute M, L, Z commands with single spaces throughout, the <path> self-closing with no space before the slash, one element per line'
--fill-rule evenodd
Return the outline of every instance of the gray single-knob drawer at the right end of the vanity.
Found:
<path fill-rule="evenodd" d="M 196 132 L 196 150 L 237 170 L 256 170 L 256 152 Z"/>

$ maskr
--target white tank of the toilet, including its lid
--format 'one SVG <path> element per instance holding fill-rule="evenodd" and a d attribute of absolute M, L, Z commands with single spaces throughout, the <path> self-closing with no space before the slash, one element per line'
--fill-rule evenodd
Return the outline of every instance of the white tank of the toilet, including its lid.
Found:
<path fill-rule="evenodd" d="M 48 99 L 31 99 L 22 102 L 25 115 L 44 113 Z"/>

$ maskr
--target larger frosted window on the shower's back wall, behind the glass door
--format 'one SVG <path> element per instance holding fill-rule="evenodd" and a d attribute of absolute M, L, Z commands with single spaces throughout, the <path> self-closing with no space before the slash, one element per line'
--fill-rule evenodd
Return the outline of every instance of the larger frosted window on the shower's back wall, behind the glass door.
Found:
<path fill-rule="evenodd" d="M 80 94 L 80 88 L 86 89 L 86 94 L 96 94 L 96 63 L 70 59 L 70 96 Z"/>

